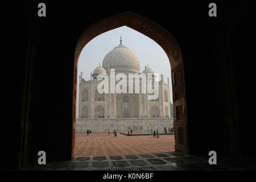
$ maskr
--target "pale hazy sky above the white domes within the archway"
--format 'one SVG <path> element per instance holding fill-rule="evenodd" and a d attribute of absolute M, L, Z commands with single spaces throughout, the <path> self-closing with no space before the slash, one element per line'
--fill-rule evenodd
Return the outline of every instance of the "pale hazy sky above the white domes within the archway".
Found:
<path fill-rule="evenodd" d="M 159 76 L 163 73 L 164 82 L 167 82 L 167 77 L 170 78 L 170 101 L 172 102 L 171 65 L 166 53 L 154 40 L 126 26 L 98 35 L 86 44 L 79 57 L 77 80 L 79 80 L 81 71 L 82 77 L 90 80 L 90 72 L 93 72 L 99 63 L 102 66 L 105 55 L 119 45 L 120 35 L 122 35 L 123 46 L 128 47 L 138 56 L 141 62 L 141 72 L 148 64 L 155 73 L 159 73 Z M 78 88 L 77 93 L 79 96 Z M 77 101 L 79 101 L 78 97 Z"/>

